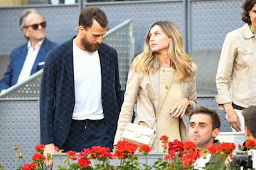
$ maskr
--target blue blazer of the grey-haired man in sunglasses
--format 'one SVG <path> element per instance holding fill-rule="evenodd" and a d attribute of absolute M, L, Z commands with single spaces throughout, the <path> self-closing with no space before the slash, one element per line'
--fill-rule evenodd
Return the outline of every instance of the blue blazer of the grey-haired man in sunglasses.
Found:
<path fill-rule="evenodd" d="M 46 60 L 46 55 L 48 55 L 48 52 L 55 46 L 57 46 L 55 42 L 51 42 L 47 38 L 43 40 L 31 69 L 31 75 L 38 72 L 40 69 L 43 69 L 43 62 Z M 6 68 L 6 72 L 0 81 L 0 91 L 3 89 L 8 89 L 10 86 L 17 83 L 19 74 L 21 73 L 21 69 L 26 60 L 27 53 L 28 43 L 21 45 L 21 47 L 17 47 L 11 52 L 8 67 Z"/>

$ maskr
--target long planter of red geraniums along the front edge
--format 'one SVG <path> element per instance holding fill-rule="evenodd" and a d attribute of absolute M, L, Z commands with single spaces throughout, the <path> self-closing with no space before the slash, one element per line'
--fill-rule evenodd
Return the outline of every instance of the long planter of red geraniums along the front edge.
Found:
<path fill-rule="evenodd" d="M 221 136 L 222 135 L 222 136 Z M 238 143 L 243 142 L 244 135 L 241 133 Z M 235 137 L 235 139 L 234 139 Z M 208 153 L 213 155 L 214 161 L 207 164 L 207 169 L 223 169 L 225 166 L 224 160 L 235 152 L 236 139 L 238 134 L 228 133 L 220 134 L 218 140 L 222 143 L 218 145 L 210 145 L 207 148 Z M 168 137 L 163 135 L 159 138 L 163 143 L 163 152 L 150 152 L 151 148 L 148 145 L 139 146 L 127 142 L 119 141 L 114 148 L 113 153 L 107 147 L 93 146 L 92 148 L 85 148 L 80 153 L 72 150 L 63 153 L 61 149 L 55 148 L 55 153 L 52 158 L 43 157 L 43 150 L 45 145 L 36 145 L 36 153 L 33 155 L 33 162 L 24 164 L 25 169 L 42 168 L 46 159 L 53 159 L 53 169 L 193 169 L 196 167 L 196 159 L 200 157 L 200 148 L 196 147 L 191 141 L 181 142 L 174 140 L 169 142 Z M 225 140 L 223 142 L 223 140 Z M 228 140 L 232 140 L 229 142 Z M 247 140 L 245 147 L 256 149 L 254 140 Z M 239 146 L 238 149 L 244 148 Z M 17 154 L 18 146 L 14 149 Z M 204 151 L 203 151 L 204 152 Z M 23 155 L 18 156 L 22 158 Z M 249 158 L 249 157 L 248 157 Z M 252 157 L 255 159 L 255 157 Z M 220 161 L 222 163 L 217 163 Z M 233 166 L 233 165 L 232 165 Z M 236 165 L 235 165 L 236 166 Z M 248 166 L 249 168 L 252 166 Z M 255 165 L 256 167 L 256 165 Z M 38 169 L 39 170 L 39 169 Z"/>

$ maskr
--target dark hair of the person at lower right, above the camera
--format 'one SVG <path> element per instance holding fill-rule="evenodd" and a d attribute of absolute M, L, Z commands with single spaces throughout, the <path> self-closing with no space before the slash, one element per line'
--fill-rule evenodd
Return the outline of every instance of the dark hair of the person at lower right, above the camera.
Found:
<path fill-rule="evenodd" d="M 242 111 L 245 118 L 245 127 L 250 130 L 253 137 L 256 138 L 256 106 L 249 106 Z"/>

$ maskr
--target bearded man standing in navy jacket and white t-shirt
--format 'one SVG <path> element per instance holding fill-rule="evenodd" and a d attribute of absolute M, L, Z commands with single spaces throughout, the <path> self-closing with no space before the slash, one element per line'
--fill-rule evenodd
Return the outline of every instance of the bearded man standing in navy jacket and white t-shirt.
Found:
<path fill-rule="evenodd" d="M 78 35 L 55 47 L 41 80 L 40 121 L 44 154 L 113 147 L 124 92 L 117 51 L 102 43 L 107 16 L 97 7 L 80 13 Z M 52 162 L 46 162 L 51 166 Z"/>

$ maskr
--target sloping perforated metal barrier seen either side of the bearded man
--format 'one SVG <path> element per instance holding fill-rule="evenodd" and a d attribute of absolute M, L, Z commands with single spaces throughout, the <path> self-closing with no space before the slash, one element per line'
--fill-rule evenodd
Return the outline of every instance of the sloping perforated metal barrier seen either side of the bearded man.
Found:
<path fill-rule="evenodd" d="M 107 31 L 103 42 L 117 50 L 119 62 L 119 79 L 122 90 L 125 89 L 129 65 L 134 57 L 134 38 L 132 20 L 124 21 L 118 26 Z M 11 86 L 0 94 L 0 98 L 37 98 L 40 93 L 40 84 L 43 70 L 36 72 L 31 77 Z"/>

